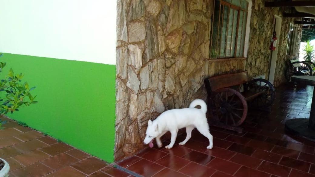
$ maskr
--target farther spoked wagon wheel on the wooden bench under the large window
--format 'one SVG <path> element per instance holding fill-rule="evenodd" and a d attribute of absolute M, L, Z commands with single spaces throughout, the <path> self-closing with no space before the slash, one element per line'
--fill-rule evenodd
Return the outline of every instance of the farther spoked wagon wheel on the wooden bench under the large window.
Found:
<path fill-rule="evenodd" d="M 249 100 L 250 105 L 256 107 L 268 107 L 271 106 L 276 98 L 276 90 L 272 83 L 266 79 L 254 79 L 247 83 L 246 89 L 253 93 L 261 93 L 252 100 Z"/>

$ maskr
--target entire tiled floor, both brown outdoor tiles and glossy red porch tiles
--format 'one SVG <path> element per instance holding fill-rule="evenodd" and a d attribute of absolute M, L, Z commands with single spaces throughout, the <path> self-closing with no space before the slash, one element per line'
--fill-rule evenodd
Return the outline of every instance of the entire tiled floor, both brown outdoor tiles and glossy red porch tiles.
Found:
<path fill-rule="evenodd" d="M 251 111 L 242 134 L 211 127 L 214 148 L 194 130 L 185 146 L 148 148 L 117 166 L 134 176 L 315 177 L 315 142 L 293 137 L 284 123 L 309 116 L 312 87 L 277 88 L 272 112 Z M 3 118 L 2 118 L 3 119 Z M 132 176 L 72 146 L 31 128 L 9 122 L 0 130 L 0 157 L 10 163 L 10 177 Z M 185 133 L 177 138 L 180 142 Z M 164 142 L 167 145 L 167 142 Z"/>

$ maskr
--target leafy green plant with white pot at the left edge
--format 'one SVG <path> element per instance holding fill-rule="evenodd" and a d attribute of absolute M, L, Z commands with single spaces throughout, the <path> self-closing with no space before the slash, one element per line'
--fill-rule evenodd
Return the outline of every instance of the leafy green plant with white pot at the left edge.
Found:
<path fill-rule="evenodd" d="M 0 54 L 0 57 L 2 54 Z M 0 62 L 0 72 L 6 66 L 6 63 Z M 12 68 L 9 71 L 9 74 L 0 79 L 0 116 L 19 111 L 19 108 L 29 106 L 31 104 L 37 103 L 35 101 L 36 96 L 31 95 L 31 91 L 35 87 L 30 88 L 28 83 L 22 83 L 23 75 L 14 74 Z M 5 121 L 0 119 L 0 131 L 3 129 L 2 125 Z M 9 163 L 4 159 L 0 158 L 0 177 L 6 177 L 9 173 Z"/>

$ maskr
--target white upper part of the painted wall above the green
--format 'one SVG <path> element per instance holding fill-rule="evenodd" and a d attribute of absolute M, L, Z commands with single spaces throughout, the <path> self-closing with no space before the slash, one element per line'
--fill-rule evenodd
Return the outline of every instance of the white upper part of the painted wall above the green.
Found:
<path fill-rule="evenodd" d="M 116 64 L 116 0 L 0 0 L 0 52 Z"/>

